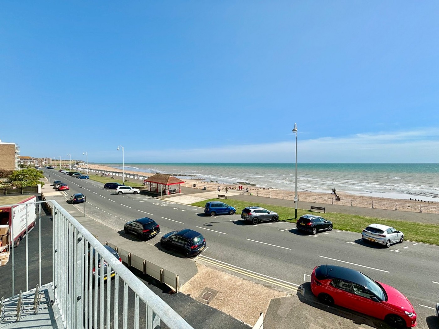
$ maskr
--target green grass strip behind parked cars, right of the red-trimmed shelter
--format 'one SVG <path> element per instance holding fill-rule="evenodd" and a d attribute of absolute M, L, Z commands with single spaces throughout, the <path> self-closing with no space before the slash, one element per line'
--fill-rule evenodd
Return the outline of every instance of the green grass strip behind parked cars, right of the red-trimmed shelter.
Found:
<path fill-rule="evenodd" d="M 195 202 L 191 204 L 192 206 L 204 207 L 206 202 L 208 201 L 219 201 L 218 199 L 210 199 L 200 202 Z M 221 200 L 222 201 L 222 200 Z M 236 208 L 237 214 L 241 214 L 242 209 L 247 206 L 259 206 L 266 208 L 270 211 L 275 211 L 279 214 L 279 220 L 285 222 L 295 223 L 296 220 L 294 218 L 294 208 L 289 207 L 280 207 L 280 206 L 272 206 L 270 204 L 249 204 L 248 201 L 240 201 L 240 200 L 232 200 L 227 199 L 226 203 L 232 207 Z M 402 231 L 404 233 L 404 239 L 423 242 L 423 243 L 431 243 L 439 245 L 439 225 L 432 224 L 422 224 L 417 222 L 407 222 L 407 221 L 398 221 L 395 219 L 387 219 L 387 218 L 376 218 L 376 217 L 367 217 L 367 216 L 359 216 L 359 215 L 349 215 L 349 214 L 340 214 L 335 212 L 327 212 L 326 214 L 312 212 L 304 209 L 297 209 L 297 216 L 302 216 L 304 214 L 315 214 L 322 216 L 328 220 L 330 220 L 334 229 L 350 231 L 350 232 L 358 232 L 361 231 L 370 224 L 383 224 L 392 226 L 395 229 Z M 360 238 L 360 235 L 358 236 Z"/>

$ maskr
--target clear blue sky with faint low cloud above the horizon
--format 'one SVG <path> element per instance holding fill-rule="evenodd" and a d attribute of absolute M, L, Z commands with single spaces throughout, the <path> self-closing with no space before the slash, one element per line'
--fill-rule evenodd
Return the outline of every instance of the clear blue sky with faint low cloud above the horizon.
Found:
<path fill-rule="evenodd" d="M 0 139 L 121 162 L 439 162 L 438 1 L 3 1 Z"/>

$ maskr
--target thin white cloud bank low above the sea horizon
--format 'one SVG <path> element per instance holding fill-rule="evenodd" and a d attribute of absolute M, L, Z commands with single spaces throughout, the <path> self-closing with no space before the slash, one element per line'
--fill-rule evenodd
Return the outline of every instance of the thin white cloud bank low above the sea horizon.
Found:
<path fill-rule="evenodd" d="M 439 162 L 439 129 L 301 139 L 299 162 Z M 109 154 L 108 154 L 109 155 Z M 126 152 L 140 162 L 294 162 L 295 140 L 212 148 Z"/>

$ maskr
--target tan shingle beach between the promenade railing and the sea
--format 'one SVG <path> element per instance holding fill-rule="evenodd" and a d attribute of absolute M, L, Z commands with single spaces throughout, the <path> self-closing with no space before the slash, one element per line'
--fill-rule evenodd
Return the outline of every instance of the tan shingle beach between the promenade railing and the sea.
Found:
<path fill-rule="evenodd" d="M 98 165 L 98 164 L 89 164 L 89 169 L 95 169 L 95 170 L 102 170 L 102 171 L 108 171 L 108 172 L 122 172 L 119 168 L 112 168 L 106 165 Z M 150 177 L 154 175 L 154 173 L 147 173 L 147 172 L 138 172 L 134 170 L 126 170 L 125 173 L 131 173 L 143 177 Z M 203 188 L 206 187 L 206 190 L 217 190 L 218 186 L 220 187 L 221 193 L 225 192 L 225 188 L 227 187 L 230 190 L 239 190 L 240 184 L 218 184 L 216 182 L 209 182 L 206 180 L 200 180 L 200 179 L 184 179 L 185 184 L 182 184 L 186 187 L 194 187 L 194 184 L 197 185 L 197 188 Z M 294 199 L 294 191 L 290 190 L 278 190 L 278 189 L 272 189 L 272 188 L 260 188 L 257 186 L 249 186 L 241 184 L 242 190 L 246 190 L 248 188 L 248 193 L 252 193 L 253 195 L 257 196 L 264 196 L 264 197 L 276 197 L 276 198 L 283 198 L 287 200 L 293 200 Z M 367 197 L 364 195 L 353 195 L 349 193 L 345 193 L 343 191 L 337 190 L 337 194 L 340 197 L 340 201 L 334 201 L 338 204 L 342 205 L 357 205 L 360 207 L 370 207 L 372 203 L 374 204 L 381 204 L 381 208 L 385 204 L 389 204 L 389 209 L 392 207 L 395 208 L 395 204 L 404 204 L 407 205 L 407 207 L 413 206 L 412 211 L 418 211 L 419 206 L 435 206 L 438 207 L 438 202 L 421 202 L 420 200 L 409 200 L 409 199 L 395 199 L 395 198 L 386 198 L 386 197 Z M 328 193 L 316 193 L 316 192 L 304 192 L 304 191 L 298 191 L 298 197 L 299 200 L 302 201 L 308 201 L 308 202 L 320 202 L 320 203 L 331 203 L 332 200 L 335 199 L 335 196 L 331 194 L 331 191 L 328 191 Z M 407 209 L 406 209 L 407 210 Z"/>

